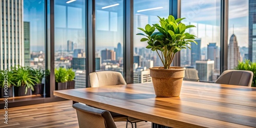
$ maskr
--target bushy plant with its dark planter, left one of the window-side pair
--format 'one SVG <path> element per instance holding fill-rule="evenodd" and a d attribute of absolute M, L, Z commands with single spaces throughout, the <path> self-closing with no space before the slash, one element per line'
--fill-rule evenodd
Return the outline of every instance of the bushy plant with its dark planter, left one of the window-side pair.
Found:
<path fill-rule="evenodd" d="M 68 72 L 65 68 L 55 69 L 55 90 L 66 90 Z"/>

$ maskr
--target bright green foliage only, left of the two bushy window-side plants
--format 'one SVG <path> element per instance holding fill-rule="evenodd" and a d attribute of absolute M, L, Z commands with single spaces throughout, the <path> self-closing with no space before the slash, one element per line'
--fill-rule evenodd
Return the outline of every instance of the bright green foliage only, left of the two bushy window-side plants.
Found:
<path fill-rule="evenodd" d="M 55 81 L 56 82 L 67 82 L 68 71 L 65 68 L 55 69 Z"/>

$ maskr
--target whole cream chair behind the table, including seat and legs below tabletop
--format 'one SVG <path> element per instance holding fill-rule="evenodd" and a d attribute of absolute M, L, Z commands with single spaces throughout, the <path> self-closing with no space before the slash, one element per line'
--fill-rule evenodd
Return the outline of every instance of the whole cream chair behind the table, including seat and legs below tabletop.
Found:
<path fill-rule="evenodd" d="M 115 86 L 119 84 L 126 84 L 122 74 L 120 72 L 114 71 L 100 71 L 100 72 L 92 72 L 89 74 L 89 83 L 92 88 L 94 87 L 103 87 L 103 86 Z M 125 115 L 121 115 L 118 113 L 110 112 L 114 121 L 126 121 L 130 122 L 133 127 L 133 123 L 135 123 L 135 128 L 137 127 L 136 123 L 144 120 L 128 117 Z"/>

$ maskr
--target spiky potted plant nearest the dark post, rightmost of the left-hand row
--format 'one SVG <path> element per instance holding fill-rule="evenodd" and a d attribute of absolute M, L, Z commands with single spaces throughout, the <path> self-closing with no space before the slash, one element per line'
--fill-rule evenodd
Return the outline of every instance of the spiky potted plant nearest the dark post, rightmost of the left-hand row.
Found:
<path fill-rule="evenodd" d="M 34 84 L 34 94 L 41 94 L 42 88 L 44 88 L 44 83 L 42 83 L 42 78 L 45 77 L 45 71 L 41 70 L 41 69 L 33 69 L 31 68 L 31 73 L 33 74 L 33 76 L 35 76 L 39 81 L 37 81 Z"/>

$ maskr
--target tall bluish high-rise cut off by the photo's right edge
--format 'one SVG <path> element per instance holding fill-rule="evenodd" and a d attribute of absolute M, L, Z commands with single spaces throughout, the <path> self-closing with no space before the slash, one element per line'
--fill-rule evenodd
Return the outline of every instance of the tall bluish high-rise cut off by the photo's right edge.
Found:
<path fill-rule="evenodd" d="M 249 0 L 249 50 L 248 58 L 256 62 L 256 1 Z"/>

